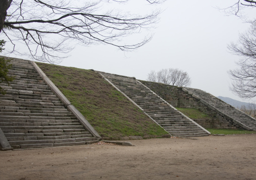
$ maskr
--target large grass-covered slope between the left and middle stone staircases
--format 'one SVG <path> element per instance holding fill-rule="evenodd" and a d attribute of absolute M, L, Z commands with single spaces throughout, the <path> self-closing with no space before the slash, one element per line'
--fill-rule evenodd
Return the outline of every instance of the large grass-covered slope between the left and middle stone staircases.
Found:
<path fill-rule="evenodd" d="M 103 138 L 167 134 L 98 73 L 37 64 Z"/>

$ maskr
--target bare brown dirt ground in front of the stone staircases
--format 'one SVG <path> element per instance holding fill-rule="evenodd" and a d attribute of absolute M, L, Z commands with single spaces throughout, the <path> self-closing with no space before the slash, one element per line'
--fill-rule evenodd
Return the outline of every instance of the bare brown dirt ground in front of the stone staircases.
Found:
<path fill-rule="evenodd" d="M 256 134 L 0 151 L 0 179 L 256 179 Z"/>

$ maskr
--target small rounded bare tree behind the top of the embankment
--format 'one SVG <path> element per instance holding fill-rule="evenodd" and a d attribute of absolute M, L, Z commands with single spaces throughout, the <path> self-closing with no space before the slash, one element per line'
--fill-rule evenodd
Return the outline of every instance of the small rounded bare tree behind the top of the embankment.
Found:
<path fill-rule="evenodd" d="M 151 71 L 148 74 L 147 80 L 173 86 L 189 86 L 191 83 L 186 72 L 172 68 L 162 69 L 157 73 L 155 71 Z"/>

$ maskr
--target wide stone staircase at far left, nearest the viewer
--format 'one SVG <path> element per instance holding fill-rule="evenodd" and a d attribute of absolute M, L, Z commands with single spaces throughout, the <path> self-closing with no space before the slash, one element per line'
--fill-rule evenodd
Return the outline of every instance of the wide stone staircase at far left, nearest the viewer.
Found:
<path fill-rule="evenodd" d="M 97 142 L 69 112 L 30 61 L 14 59 L 15 76 L 0 96 L 0 128 L 13 148 L 82 145 Z"/>

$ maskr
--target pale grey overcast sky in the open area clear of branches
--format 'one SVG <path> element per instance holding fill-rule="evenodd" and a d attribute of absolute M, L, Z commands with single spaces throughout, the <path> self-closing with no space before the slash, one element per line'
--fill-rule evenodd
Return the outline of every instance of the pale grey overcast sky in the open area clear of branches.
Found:
<path fill-rule="evenodd" d="M 137 6 L 138 0 L 135 3 L 125 5 L 126 11 L 148 11 L 145 8 L 148 6 Z M 239 57 L 230 54 L 227 45 L 236 42 L 239 32 L 244 32 L 249 25 L 216 8 L 227 8 L 234 3 L 235 0 L 167 0 L 158 6 L 164 12 L 156 28 L 151 30 L 153 39 L 145 46 L 133 52 L 122 52 L 106 45 L 76 45 L 71 56 L 59 65 L 140 80 L 146 80 L 151 70 L 178 68 L 188 73 L 192 88 L 247 102 L 229 90 L 231 81 L 227 71 L 236 67 Z"/>

